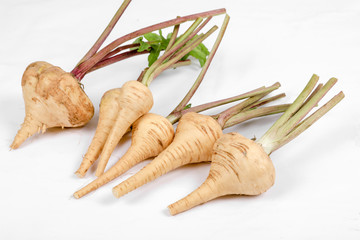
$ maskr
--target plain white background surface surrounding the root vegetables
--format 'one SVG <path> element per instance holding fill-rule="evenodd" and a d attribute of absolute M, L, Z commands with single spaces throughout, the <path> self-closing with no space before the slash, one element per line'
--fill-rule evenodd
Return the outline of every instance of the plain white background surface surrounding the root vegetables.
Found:
<path fill-rule="evenodd" d="M 120 0 L 2 0 L 0 3 L 0 239 L 360 239 L 360 2 L 357 0 L 133 1 L 109 37 L 215 8 L 231 20 L 193 105 L 276 81 L 295 99 L 313 73 L 338 84 L 345 99 L 293 142 L 272 154 L 275 185 L 257 197 L 231 196 L 170 216 L 167 206 L 206 178 L 209 165 L 175 170 L 120 199 L 113 186 L 146 162 L 88 196 L 72 193 L 93 178 L 74 175 L 94 134 L 102 94 L 136 79 L 139 56 L 83 79 L 95 116 L 83 128 L 49 130 L 9 151 L 24 117 L 21 76 L 45 60 L 70 71 L 120 6 Z M 221 25 L 219 16 L 211 24 Z M 209 24 L 209 27 L 210 25 Z M 215 36 L 205 42 L 211 46 Z M 107 41 L 107 43 L 109 42 Z M 151 85 L 152 112 L 168 114 L 199 66 L 162 74 Z M 227 131 L 260 137 L 278 116 Z M 129 146 L 121 142 L 109 165 Z"/>

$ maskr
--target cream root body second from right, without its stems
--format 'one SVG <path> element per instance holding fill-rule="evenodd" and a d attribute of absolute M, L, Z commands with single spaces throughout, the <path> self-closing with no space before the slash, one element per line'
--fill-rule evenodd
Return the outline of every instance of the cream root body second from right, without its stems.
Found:
<path fill-rule="evenodd" d="M 113 188 L 121 197 L 130 191 L 186 164 L 209 161 L 214 142 L 222 134 L 211 117 L 186 113 L 179 121 L 173 142 L 135 175 Z"/>

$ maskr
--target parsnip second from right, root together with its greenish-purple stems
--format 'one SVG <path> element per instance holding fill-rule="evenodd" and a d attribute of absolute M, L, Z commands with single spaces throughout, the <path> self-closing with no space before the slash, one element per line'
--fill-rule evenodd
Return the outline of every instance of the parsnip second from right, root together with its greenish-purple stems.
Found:
<path fill-rule="evenodd" d="M 266 111 L 269 109 L 253 109 L 253 106 L 259 106 L 264 102 L 270 101 L 264 100 L 261 103 L 258 102 L 265 95 L 279 88 L 279 86 L 280 84 L 276 83 L 271 87 L 264 88 L 258 95 L 252 96 L 216 116 L 207 116 L 195 112 L 185 113 L 179 120 L 175 137 L 171 144 L 139 172 L 115 186 L 113 188 L 114 195 L 121 197 L 181 166 L 209 161 L 211 149 L 215 141 L 222 135 L 222 130 L 247 119 L 267 115 L 269 112 Z M 275 99 L 278 97 L 276 96 Z M 270 108 L 272 113 L 279 112 L 278 107 Z M 280 106 L 282 108 L 281 111 L 283 111 L 283 107 L 286 108 L 287 105 Z M 243 113 L 246 116 L 251 114 L 252 111 L 257 111 L 257 114 L 246 119 L 238 118 L 237 120 L 232 120 L 231 125 L 226 125 L 226 122 L 230 121 L 231 118 L 236 119 L 238 117 L 237 114 Z"/>

